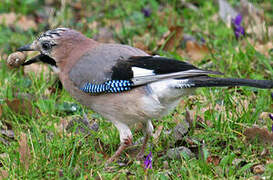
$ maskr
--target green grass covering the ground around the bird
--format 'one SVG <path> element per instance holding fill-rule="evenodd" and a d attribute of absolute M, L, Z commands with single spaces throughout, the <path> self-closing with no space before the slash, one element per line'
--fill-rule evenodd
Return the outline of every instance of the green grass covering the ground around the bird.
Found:
<path fill-rule="evenodd" d="M 0 4 L 0 12 L 14 11 L 17 14 L 33 15 L 37 12 L 36 9 L 44 7 L 43 3 L 36 1 L 16 2 L 4 1 Z M 182 8 L 178 0 L 81 2 L 83 16 L 79 19 L 76 19 L 77 12 L 71 4 L 54 4 L 56 12 L 53 15 L 54 22 L 51 23 L 55 26 L 71 27 L 93 37 L 99 30 L 90 29 L 88 24 L 97 22 L 99 27 L 110 29 L 110 22 L 113 22 L 115 27 L 112 31 L 117 43 L 135 45 L 135 38 L 138 37 L 153 53 L 190 60 L 181 57 L 177 50 L 165 52 L 158 49 L 158 42 L 168 31 L 168 26 L 182 25 L 185 34 L 191 34 L 197 39 L 204 38 L 208 46 L 214 49 L 214 53 L 208 57 L 213 63 L 210 69 L 224 72 L 229 77 L 272 79 L 272 53 L 271 56 L 265 56 L 257 52 L 246 38 L 237 41 L 232 29 L 227 28 L 220 20 L 212 20 L 212 16 L 218 12 L 212 1 L 195 1 L 199 4 L 198 12 Z M 141 9 L 147 5 L 152 14 L 145 18 Z M 265 14 L 269 20 L 267 24 L 271 26 L 272 9 L 266 10 Z M 16 24 L 14 28 L 0 25 L 0 52 L 3 60 L 19 46 L 31 42 L 46 26 L 42 22 L 37 30 L 23 31 Z M 144 34 L 147 37 L 143 38 Z M 272 41 L 272 37 L 267 41 Z M 204 62 L 193 63 L 202 66 Z M 8 69 L 5 61 L 2 61 L 0 67 L 0 102 L 3 111 L 0 125 L 1 129 L 9 128 L 15 133 L 15 138 L 9 139 L 9 145 L 0 143 L 0 154 L 7 154 L 0 159 L 1 169 L 9 173 L 9 179 L 247 179 L 254 176 L 251 171 L 254 164 L 265 164 L 266 170 L 262 176 L 273 176 L 272 164 L 266 163 L 273 159 L 272 147 L 265 147 L 259 142 L 247 143 L 242 135 L 245 128 L 252 127 L 253 124 L 271 129 L 272 121 L 269 118 L 261 120 L 260 114 L 272 112 L 272 90 L 248 87 L 198 89 L 196 96 L 185 98 L 183 108 L 179 106 L 172 114 L 153 122 L 155 129 L 160 125 L 164 128 L 156 143 L 150 140 L 151 146 L 146 151 L 148 154 L 151 150 L 153 154 L 151 170 L 144 170 L 143 162 L 123 153 L 121 160 L 129 162 L 128 165 L 116 164 L 111 171 L 106 171 L 104 163 L 119 145 L 118 131 L 111 123 L 79 104 L 79 109 L 68 113 L 69 109 L 64 107 L 64 102 L 77 102 L 65 90 L 57 88 L 55 93 L 46 94 L 48 88 L 56 88 L 55 77 L 24 75 L 21 70 Z M 18 93 L 21 97 L 23 94 L 32 95 L 33 99 L 29 101 L 39 111 L 32 115 L 20 115 L 10 109 L 6 100 L 18 98 Z M 203 124 L 202 128 L 198 128 L 195 127 L 198 123 L 194 122 L 194 128 L 187 135 L 200 144 L 197 149 L 203 152 L 202 155 L 196 158 L 182 156 L 181 159 L 171 160 L 165 156 L 166 150 L 177 144 L 165 132 L 176 126 L 173 121 L 176 114 L 181 119 L 185 118 L 186 109 L 193 110 L 210 121 L 211 126 Z M 99 124 L 97 132 L 86 136 L 75 133 L 76 128 L 71 133 L 61 128 L 63 120 L 81 117 L 82 110 L 88 113 L 92 121 Z M 27 136 L 30 151 L 29 160 L 24 163 L 20 163 L 18 151 L 22 132 Z M 134 133 L 135 141 L 141 137 L 142 133 Z M 202 142 L 205 148 L 201 148 Z M 264 148 L 269 151 L 265 157 L 261 155 Z M 219 165 L 206 162 L 206 158 L 211 155 L 220 158 Z M 243 163 L 235 165 L 232 163 L 234 159 L 242 159 Z M 164 166 L 166 163 L 167 167 Z M 28 169 L 25 164 L 29 164 Z"/>

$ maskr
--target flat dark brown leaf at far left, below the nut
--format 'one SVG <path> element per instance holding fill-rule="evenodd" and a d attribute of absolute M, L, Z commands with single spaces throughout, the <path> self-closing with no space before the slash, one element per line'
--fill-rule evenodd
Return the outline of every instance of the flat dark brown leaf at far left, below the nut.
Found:
<path fill-rule="evenodd" d="M 21 115 L 32 116 L 35 108 L 32 106 L 31 102 L 27 99 L 13 99 L 12 101 L 6 100 L 8 107 L 15 113 Z"/>

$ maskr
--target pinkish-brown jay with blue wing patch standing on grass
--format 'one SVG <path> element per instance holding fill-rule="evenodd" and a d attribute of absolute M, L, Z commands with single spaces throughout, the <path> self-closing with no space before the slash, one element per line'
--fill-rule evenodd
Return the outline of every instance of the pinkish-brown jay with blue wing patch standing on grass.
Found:
<path fill-rule="evenodd" d="M 218 77 L 223 73 L 129 45 L 100 43 L 70 28 L 48 30 L 17 51 L 39 51 L 23 65 L 38 61 L 51 65 L 74 99 L 114 124 L 120 145 L 106 164 L 132 145 L 130 128 L 136 123 L 144 124 L 145 138 L 137 155 L 143 158 L 154 130 L 152 120 L 170 113 L 196 88 L 273 88 L 273 80 Z"/>

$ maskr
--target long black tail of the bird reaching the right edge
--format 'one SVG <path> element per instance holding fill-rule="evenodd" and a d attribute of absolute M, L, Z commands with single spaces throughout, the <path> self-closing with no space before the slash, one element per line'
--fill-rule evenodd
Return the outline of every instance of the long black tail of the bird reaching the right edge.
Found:
<path fill-rule="evenodd" d="M 250 86 L 263 89 L 273 88 L 273 80 L 214 78 L 208 76 L 192 78 L 189 83 L 193 84 L 192 87 Z"/>

